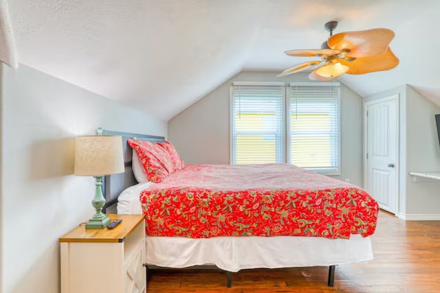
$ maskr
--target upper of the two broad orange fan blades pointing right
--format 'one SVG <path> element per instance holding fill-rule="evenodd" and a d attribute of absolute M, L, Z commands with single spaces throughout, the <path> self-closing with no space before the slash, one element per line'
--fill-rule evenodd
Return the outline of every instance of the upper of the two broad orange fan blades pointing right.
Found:
<path fill-rule="evenodd" d="M 392 30 L 379 28 L 335 34 L 327 43 L 331 49 L 342 52 L 348 49 L 347 56 L 366 58 L 383 54 L 394 36 Z"/>

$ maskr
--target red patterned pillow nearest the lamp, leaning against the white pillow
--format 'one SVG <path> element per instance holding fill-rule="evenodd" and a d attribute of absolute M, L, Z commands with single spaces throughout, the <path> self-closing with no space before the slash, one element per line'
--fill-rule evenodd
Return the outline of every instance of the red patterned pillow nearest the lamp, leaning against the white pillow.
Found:
<path fill-rule="evenodd" d="M 173 172 L 173 163 L 170 155 L 163 148 L 149 141 L 129 139 L 129 145 L 136 151 L 137 157 L 142 162 L 146 176 L 151 181 L 161 182 Z"/>

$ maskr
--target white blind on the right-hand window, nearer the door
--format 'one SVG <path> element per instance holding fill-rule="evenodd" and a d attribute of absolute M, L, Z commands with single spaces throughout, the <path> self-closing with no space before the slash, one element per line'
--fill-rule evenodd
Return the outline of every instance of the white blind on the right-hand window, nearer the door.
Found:
<path fill-rule="evenodd" d="M 292 85 L 289 89 L 289 163 L 338 174 L 340 86 Z"/>

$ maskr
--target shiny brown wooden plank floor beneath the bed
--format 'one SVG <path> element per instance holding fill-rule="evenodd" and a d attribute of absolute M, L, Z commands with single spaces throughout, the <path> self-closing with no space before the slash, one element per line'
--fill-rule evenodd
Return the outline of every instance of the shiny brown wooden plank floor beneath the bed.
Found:
<path fill-rule="evenodd" d="M 381 212 L 372 237 L 374 260 L 336 266 L 335 285 L 327 286 L 328 268 L 157 271 L 153 292 L 440 292 L 440 221 L 404 221 Z"/>

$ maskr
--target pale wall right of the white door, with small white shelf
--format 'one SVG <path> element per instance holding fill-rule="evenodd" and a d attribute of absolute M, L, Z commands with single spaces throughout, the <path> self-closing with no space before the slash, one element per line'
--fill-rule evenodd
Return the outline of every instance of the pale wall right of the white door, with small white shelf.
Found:
<path fill-rule="evenodd" d="M 365 102 L 399 95 L 399 217 L 408 220 L 440 219 L 440 181 L 415 182 L 409 172 L 440 171 L 440 146 L 434 114 L 440 107 L 402 85 L 365 97 Z"/>

